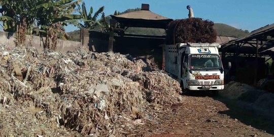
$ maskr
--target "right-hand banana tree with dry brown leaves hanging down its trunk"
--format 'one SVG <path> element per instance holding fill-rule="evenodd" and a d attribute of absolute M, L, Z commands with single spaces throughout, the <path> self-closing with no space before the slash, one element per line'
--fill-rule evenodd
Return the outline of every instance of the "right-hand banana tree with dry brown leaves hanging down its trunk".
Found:
<path fill-rule="evenodd" d="M 43 1 L 43 0 L 39 0 Z M 56 49 L 57 38 L 66 39 L 67 34 L 63 26 L 71 20 L 81 19 L 80 15 L 72 14 L 81 1 L 58 0 L 41 3 L 30 9 L 30 14 L 37 17 L 37 30 L 46 35 L 44 48 Z"/>

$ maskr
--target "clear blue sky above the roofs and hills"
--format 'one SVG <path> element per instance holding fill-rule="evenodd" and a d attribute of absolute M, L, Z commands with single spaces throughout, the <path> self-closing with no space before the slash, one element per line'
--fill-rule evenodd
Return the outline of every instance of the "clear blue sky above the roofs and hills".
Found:
<path fill-rule="evenodd" d="M 87 10 L 93 11 L 105 6 L 105 14 L 123 12 L 127 9 L 141 8 L 142 3 L 150 5 L 150 11 L 172 19 L 188 17 L 187 5 L 190 5 L 194 17 L 209 19 L 215 23 L 224 23 L 243 30 L 255 30 L 274 23 L 274 0 L 83 0 Z M 65 27 L 66 31 L 77 29 Z"/>

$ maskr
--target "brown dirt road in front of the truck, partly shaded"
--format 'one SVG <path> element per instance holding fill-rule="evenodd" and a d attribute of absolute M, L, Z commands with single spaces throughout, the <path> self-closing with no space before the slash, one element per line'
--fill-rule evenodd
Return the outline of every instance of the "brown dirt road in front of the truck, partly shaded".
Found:
<path fill-rule="evenodd" d="M 144 136 L 274 136 L 274 120 L 245 109 L 239 101 L 201 94 L 160 109 L 164 111 L 155 111 L 151 133 Z"/>

